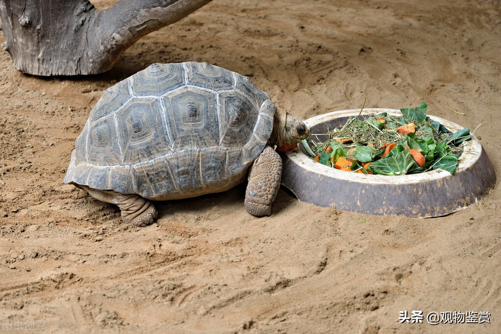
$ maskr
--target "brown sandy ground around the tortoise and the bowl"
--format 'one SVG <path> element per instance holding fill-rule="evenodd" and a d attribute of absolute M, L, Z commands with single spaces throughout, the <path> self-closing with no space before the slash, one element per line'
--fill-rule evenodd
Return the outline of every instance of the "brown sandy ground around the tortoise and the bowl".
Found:
<path fill-rule="evenodd" d="M 159 202 L 144 228 L 63 177 L 105 88 L 186 60 L 250 76 L 303 118 L 364 96 L 369 107 L 425 101 L 430 114 L 481 123 L 499 172 L 500 14 L 496 0 L 214 0 L 102 75 L 24 75 L 0 51 L 2 329 L 499 332 L 499 177 L 477 204 L 439 218 L 321 208 L 286 189 L 271 217 L 255 218 L 241 185 Z M 489 312 L 490 323 L 399 323 L 405 310 Z"/>

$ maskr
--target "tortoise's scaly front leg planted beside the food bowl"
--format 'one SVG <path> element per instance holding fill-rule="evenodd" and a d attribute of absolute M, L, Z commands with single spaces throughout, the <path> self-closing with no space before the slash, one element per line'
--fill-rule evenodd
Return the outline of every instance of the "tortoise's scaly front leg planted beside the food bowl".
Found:
<path fill-rule="evenodd" d="M 282 176 L 282 158 L 270 146 L 250 167 L 245 191 L 245 208 L 255 216 L 272 214 L 272 203 L 277 197 Z"/>

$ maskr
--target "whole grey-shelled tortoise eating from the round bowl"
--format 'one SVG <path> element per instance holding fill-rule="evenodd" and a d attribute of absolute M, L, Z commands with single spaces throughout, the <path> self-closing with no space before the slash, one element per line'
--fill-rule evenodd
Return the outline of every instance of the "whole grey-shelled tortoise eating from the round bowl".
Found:
<path fill-rule="evenodd" d="M 307 136 L 305 123 L 278 112 L 248 77 L 207 62 L 154 63 L 103 92 L 64 182 L 146 226 L 157 218 L 150 200 L 225 191 L 247 178 L 245 208 L 270 215 L 282 173 L 274 145 Z"/>

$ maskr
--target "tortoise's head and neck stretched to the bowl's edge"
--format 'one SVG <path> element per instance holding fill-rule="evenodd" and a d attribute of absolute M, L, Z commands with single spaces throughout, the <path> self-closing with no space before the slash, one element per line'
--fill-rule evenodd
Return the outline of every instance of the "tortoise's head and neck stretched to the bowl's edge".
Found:
<path fill-rule="evenodd" d="M 308 137 L 308 126 L 286 111 L 277 111 L 273 120 L 272 144 L 293 145 Z"/>

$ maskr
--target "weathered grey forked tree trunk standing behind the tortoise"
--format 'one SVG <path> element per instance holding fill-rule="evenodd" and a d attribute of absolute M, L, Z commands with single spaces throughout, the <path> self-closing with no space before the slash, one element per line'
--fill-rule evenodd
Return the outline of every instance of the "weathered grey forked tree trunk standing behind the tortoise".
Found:
<path fill-rule="evenodd" d="M 88 0 L 0 0 L 2 47 L 25 73 L 102 73 L 139 38 L 210 1 L 121 0 L 97 10 Z"/>

